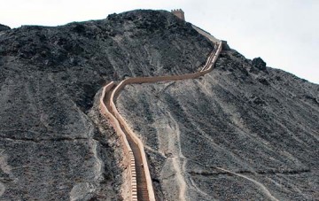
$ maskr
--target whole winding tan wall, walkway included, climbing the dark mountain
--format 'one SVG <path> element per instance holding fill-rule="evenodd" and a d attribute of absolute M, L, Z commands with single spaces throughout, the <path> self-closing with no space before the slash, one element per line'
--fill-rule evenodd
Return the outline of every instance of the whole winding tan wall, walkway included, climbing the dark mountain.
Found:
<path fill-rule="evenodd" d="M 102 95 L 100 97 L 100 112 L 105 116 L 105 118 L 110 120 L 116 133 L 120 136 L 124 152 L 123 166 L 128 169 L 124 178 L 128 183 L 130 183 L 130 186 L 127 190 L 128 195 L 122 195 L 125 200 L 155 201 L 156 199 L 152 187 L 152 178 L 144 151 L 144 145 L 117 110 L 116 105 L 114 104 L 115 99 L 121 93 L 121 89 L 128 84 L 196 79 L 211 72 L 213 70 L 214 63 L 222 51 L 222 41 L 217 40 L 213 35 L 209 35 L 198 27 L 193 26 L 193 28 L 196 29 L 199 34 L 206 36 L 211 42 L 215 43 L 213 52 L 206 60 L 206 65 L 203 66 L 199 72 L 186 73 L 182 75 L 128 78 L 118 84 L 112 81 L 103 88 Z"/>

